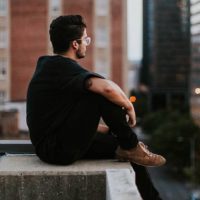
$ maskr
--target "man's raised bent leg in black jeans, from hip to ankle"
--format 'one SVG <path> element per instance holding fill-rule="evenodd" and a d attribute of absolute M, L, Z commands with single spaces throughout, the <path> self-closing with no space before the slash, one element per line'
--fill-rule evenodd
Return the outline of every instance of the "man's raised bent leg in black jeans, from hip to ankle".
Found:
<path fill-rule="evenodd" d="M 80 159 L 91 146 L 101 117 L 116 135 L 118 145 L 123 149 L 137 146 L 137 136 L 127 123 L 125 111 L 103 96 L 88 92 L 66 113 L 64 126 L 37 146 L 37 155 L 43 161 L 63 165 Z"/>

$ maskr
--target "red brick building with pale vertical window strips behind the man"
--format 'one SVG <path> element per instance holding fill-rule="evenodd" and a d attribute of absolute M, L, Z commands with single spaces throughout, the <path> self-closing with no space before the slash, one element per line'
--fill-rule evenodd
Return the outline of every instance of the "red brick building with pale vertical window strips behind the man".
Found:
<path fill-rule="evenodd" d="M 126 0 L 0 0 L 0 95 L 5 100 L 26 98 L 37 58 L 52 54 L 49 24 L 65 14 L 84 16 L 92 38 L 81 64 L 126 90 L 126 4 Z"/>

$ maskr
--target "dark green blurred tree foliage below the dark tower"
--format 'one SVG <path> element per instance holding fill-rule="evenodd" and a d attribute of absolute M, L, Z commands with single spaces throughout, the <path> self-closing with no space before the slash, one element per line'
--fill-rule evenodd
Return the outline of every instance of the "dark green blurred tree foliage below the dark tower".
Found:
<path fill-rule="evenodd" d="M 145 133 L 151 134 L 151 146 L 154 150 L 164 155 L 168 165 L 180 173 L 184 173 L 185 168 L 190 168 L 192 139 L 200 154 L 200 147 L 197 145 L 197 141 L 200 141 L 200 128 L 188 113 L 176 110 L 151 113 L 143 119 L 142 128 Z M 200 166 L 200 159 L 196 163 Z M 198 179 L 200 180 L 200 173 Z"/>

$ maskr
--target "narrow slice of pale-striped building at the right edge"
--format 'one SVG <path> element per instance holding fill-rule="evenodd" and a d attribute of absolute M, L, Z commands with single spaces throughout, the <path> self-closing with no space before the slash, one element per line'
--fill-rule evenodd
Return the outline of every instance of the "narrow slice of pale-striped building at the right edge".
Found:
<path fill-rule="evenodd" d="M 200 125 L 200 0 L 191 0 L 191 78 L 190 110 Z"/>

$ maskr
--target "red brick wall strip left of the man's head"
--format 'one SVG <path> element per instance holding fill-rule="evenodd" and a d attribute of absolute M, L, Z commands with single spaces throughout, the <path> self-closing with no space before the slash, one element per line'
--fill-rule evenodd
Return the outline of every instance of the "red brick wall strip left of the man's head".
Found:
<path fill-rule="evenodd" d="M 11 99 L 23 100 L 36 60 L 47 52 L 47 0 L 11 1 Z"/>

